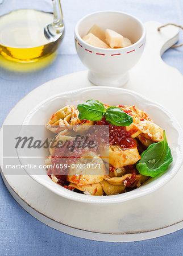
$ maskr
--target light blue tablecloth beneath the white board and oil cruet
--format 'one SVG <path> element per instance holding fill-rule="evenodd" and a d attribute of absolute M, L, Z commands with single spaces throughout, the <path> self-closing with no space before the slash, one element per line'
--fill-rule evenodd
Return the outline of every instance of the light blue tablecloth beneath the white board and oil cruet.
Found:
<path fill-rule="evenodd" d="M 51 0 L 44 1 L 46 6 L 51 4 Z M 27 2 L 41 4 L 40 0 Z M 61 3 L 66 34 L 56 60 L 49 67 L 34 73 L 20 74 L 0 69 L 1 125 L 13 106 L 32 89 L 56 77 L 85 69 L 76 55 L 73 42 L 74 25 L 82 16 L 99 10 L 120 10 L 138 16 L 143 22 L 157 20 L 183 25 L 182 0 L 63 0 Z M 0 15 L 3 11 L 2 5 Z M 182 35 L 180 42 L 183 42 Z M 163 60 L 183 75 L 183 47 L 169 49 L 164 53 Z M 49 228 L 16 203 L 2 179 L 0 214 L 1 255 L 183 255 L 183 230 L 153 240 L 106 243 L 72 237 Z"/>

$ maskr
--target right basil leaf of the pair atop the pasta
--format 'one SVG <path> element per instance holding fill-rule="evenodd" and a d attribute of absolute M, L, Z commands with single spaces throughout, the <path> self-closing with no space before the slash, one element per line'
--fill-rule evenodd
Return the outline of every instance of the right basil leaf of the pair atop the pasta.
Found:
<path fill-rule="evenodd" d="M 117 126 L 129 126 L 133 122 L 131 115 L 123 112 L 122 109 L 116 106 L 110 106 L 106 110 L 105 118 L 111 125 Z"/>

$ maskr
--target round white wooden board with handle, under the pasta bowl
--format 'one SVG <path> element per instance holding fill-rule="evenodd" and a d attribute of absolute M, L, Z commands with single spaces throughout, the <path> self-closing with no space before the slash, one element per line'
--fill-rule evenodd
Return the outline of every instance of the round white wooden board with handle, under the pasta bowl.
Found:
<path fill-rule="evenodd" d="M 160 102 L 182 125 L 183 77 L 176 69 L 166 65 L 160 56 L 165 49 L 177 42 L 178 30 L 167 27 L 157 32 L 160 25 L 157 22 L 145 24 L 147 44 L 143 57 L 131 70 L 130 81 L 124 88 L 136 90 Z M 27 113 L 40 101 L 54 94 L 85 86 L 92 86 L 86 71 L 49 81 L 24 97 L 11 110 L 3 124 L 21 125 Z M 2 143 L 0 153 L 1 174 L 11 195 L 27 212 L 52 228 L 73 236 L 111 242 L 145 240 L 183 228 L 182 168 L 167 185 L 150 195 L 122 204 L 94 205 L 59 197 L 36 183 L 26 173 L 21 176 L 4 176 Z"/>

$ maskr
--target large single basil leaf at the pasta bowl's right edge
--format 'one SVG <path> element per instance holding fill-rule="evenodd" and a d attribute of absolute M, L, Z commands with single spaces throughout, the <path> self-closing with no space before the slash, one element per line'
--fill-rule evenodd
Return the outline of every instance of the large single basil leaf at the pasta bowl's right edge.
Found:
<path fill-rule="evenodd" d="M 167 143 L 165 131 L 164 140 L 151 144 L 140 156 L 141 159 L 136 163 L 136 168 L 140 174 L 155 177 L 166 171 L 173 158 Z"/>

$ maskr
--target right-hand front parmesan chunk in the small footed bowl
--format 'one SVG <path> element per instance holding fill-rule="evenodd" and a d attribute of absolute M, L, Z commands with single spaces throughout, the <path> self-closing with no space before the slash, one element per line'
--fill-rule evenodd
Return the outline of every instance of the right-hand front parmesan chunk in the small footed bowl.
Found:
<path fill-rule="evenodd" d="M 111 48 L 123 47 L 123 36 L 114 30 L 106 30 L 106 42 Z"/>

